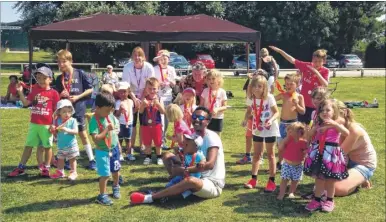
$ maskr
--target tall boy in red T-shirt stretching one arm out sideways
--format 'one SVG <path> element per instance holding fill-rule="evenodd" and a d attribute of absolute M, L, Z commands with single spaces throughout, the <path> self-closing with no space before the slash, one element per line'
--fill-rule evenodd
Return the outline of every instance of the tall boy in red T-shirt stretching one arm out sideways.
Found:
<path fill-rule="evenodd" d="M 299 114 L 298 120 L 308 125 L 311 122 L 311 114 L 315 110 L 315 106 L 311 101 L 312 90 L 319 86 L 328 87 L 329 70 L 323 66 L 323 64 L 326 63 L 327 51 L 318 49 L 312 54 L 312 62 L 303 62 L 294 59 L 279 48 L 274 46 L 270 46 L 270 48 L 282 55 L 287 61 L 294 64 L 302 74 L 302 89 L 300 94 L 304 97 L 306 113 L 304 115 Z"/>

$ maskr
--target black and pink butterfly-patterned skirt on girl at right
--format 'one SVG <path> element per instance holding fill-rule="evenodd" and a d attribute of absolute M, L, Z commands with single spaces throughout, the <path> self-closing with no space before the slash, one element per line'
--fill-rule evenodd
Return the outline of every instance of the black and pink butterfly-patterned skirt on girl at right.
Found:
<path fill-rule="evenodd" d="M 319 143 L 311 144 L 304 161 L 304 174 L 317 179 L 343 180 L 348 177 L 346 161 L 337 143 L 326 142 L 323 152 Z"/>

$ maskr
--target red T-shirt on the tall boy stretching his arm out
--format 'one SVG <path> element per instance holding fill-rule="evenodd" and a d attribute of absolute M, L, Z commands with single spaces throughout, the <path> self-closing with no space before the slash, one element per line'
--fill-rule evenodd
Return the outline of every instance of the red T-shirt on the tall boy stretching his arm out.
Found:
<path fill-rule="evenodd" d="M 295 60 L 295 67 L 298 68 L 302 73 L 302 90 L 300 91 L 300 94 L 302 94 L 304 97 L 304 104 L 306 107 L 315 108 L 315 106 L 312 104 L 311 92 L 316 87 L 321 86 L 321 84 L 318 80 L 318 77 L 307 66 L 312 66 L 312 63 L 299 61 L 297 59 Z M 318 69 L 318 71 L 328 82 L 329 70 L 322 66 Z"/>

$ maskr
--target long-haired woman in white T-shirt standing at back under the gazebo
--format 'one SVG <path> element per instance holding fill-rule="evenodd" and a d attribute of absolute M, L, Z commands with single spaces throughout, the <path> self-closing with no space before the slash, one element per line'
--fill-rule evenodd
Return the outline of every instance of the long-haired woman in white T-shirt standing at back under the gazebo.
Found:
<path fill-rule="evenodd" d="M 141 47 L 135 47 L 131 53 L 132 61 L 123 67 L 122 81 L 130 83 L 131 98 L 134 101 L 133 133 L 131 146 L 134 147 L 137 135 L 138 108 L 144 98 L 145 82 L 154 77 L 153 66 L 146 62 L 145 52 Z"/>

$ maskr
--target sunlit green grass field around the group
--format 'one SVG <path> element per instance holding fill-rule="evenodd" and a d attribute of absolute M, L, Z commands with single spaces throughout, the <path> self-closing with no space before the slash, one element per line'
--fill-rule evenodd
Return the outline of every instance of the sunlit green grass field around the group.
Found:
<path fill-rule="evenodd" d="M 5 91 L 5 81 L 0 93 Z M 226 111 L 222 135 L 226 160 L 226 186 L 221 197 L 210 200 L 189 198 L 172 199 L 166 204 L 129 206 L 128 196 L 137 190 L 154 190 L 166 184 L 166 173 L 157 165 L 143 166 L 143 158 L 133 164 L 124 164 L 121 173 L 125 178 L 122 199 L 111 207 L 94 203 L 98 194 L 97 174 L 82 165 L 87 157 L 82 151 L 79 159 L 79 179 L 75 184 L 65 180 L 52 181 L 37 176 L 35 152 L 29 161 L 27 176 L 9 179 L 6 174 L 20 160 L 29 121 L 28 110 L 3 110 L 1 115 L 1 195 L 4 221 L 384 221 L 385 220 L 385 79 L 337 78 L 341 100 L 368 100 L 377 98 L 379 109 L 355 109 L 356 119 L 369 132 L 377 150 L 378 168 L 371 179 L 373 189 L 360 190 L 348 197 L 336 198 L 336 210 L 331 214 L 305 212 L 306 201 L 301 199 L 276 201 L 276 195 L 265 194 L 263 186 L 268 175 L 265 160 L 259 173 L 259 188 L 245 190 L 243 183 L 249 179 L 250 165 L 238 166 L 234 162 L 244 152 L 244 129 L 240 126 L 245 111 L 244 92 L 240 89 L 244 79 L 226 79 L 224 88 L 232 90 L 233 106 Z M 54 149 L 56 150 L 56 148 Z M 83 149 L 82 149 L 83 150 Z M 279 175 L 276 176 L 279 181 Z M 313 181 L 304 177 L 298 192 L 312 189 Z M 111 192 L 111 186 L 108 187 Z"/>

